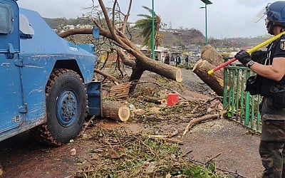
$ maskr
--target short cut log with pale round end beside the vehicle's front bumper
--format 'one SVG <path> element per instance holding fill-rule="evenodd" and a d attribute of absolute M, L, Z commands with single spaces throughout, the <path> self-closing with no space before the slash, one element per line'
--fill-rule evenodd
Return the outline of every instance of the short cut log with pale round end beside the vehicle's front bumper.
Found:
<path fill-rule="evenodd" d="M 130 118 L 130 108 L 122 105 L 117 101 L 103 101 L 102 104 L 103 117 L 108 117 L 113 120 L 127 121 Z"/>

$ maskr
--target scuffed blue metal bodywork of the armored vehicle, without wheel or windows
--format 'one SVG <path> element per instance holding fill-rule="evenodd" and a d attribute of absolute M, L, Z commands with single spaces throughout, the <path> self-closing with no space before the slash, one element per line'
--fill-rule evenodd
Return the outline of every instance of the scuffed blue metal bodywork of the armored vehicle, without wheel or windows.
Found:
<path fill-rule="evenodd" d="M 0 141 L 46 122 L 45 88 L 53 68 L 74 70 L 87 85 L 97 61 L 58 37 L 36 11 L 19 9 L 13 0 L 1 4 L 12 11 L 13 30 L 0 33 Z M 19 14 L 28 19 L 32 35 L 20 37 Z"/>

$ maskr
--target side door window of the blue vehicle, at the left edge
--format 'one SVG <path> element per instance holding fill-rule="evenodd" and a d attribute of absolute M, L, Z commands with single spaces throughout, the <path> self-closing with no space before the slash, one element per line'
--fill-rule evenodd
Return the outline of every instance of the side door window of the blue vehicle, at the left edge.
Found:
<path fill-rule="evenodd" d="M 13 31 L 11 7 L 0 4 L 0 33 L 9 34 Z"/>

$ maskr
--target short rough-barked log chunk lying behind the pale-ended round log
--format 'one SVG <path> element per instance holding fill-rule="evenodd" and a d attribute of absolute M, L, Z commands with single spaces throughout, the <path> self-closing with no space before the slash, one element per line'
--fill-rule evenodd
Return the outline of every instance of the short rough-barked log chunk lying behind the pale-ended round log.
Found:
<path fill-rule="evenodd" d="M 110 88 L 110 97 L 115 99 L 125 99 L 129 96 L 130 82 L 114 85 Z"/>

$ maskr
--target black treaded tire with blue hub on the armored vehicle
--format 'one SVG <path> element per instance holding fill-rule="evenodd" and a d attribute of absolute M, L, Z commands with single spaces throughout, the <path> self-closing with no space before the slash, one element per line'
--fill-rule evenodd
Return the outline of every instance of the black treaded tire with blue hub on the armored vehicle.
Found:
<path fill-rule="evenodd" d="M 69 142 L 81 131 L 86 107 L 86 89 L 80 75 L 73 70 L 53 70 L 46 85 L 47 122 L 34 134 L 51 145 Z"/>

